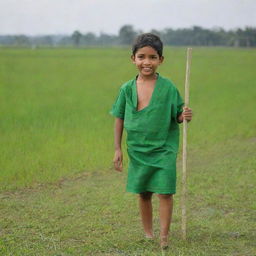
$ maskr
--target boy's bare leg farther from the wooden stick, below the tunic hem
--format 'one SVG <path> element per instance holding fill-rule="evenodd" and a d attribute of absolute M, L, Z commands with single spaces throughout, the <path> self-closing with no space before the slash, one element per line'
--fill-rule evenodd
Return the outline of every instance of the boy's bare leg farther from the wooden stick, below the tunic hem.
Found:
<path fill-rule="evenodd" d="M 146 237 L 153 238 L 152 224 L 152 192 L 144 192 L 139 194 L 139 206 L 142 225 Z"/>

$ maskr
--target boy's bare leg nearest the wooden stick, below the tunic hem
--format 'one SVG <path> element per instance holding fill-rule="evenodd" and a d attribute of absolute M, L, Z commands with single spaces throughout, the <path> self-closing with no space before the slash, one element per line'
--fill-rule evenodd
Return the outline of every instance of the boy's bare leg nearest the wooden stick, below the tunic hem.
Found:
<path fill-rule="evenodd" d="M 168 237 L 173 209 L 173 195 L 159 194 L 160 237 L 165 240 Z"/>

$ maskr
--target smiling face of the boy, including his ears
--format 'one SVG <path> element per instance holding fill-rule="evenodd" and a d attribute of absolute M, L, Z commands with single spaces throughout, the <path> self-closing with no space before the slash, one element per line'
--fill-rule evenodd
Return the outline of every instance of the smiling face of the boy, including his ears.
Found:
<path fill-rule="evenodd" d="M 158 66 L 164 60 L 164 57 L 160 57 L 157 51 L 150 46 L 138 49 L 131 58 L 132 62 L 137 66 L 140 75 L 144 77 L 154 76 Z"/>

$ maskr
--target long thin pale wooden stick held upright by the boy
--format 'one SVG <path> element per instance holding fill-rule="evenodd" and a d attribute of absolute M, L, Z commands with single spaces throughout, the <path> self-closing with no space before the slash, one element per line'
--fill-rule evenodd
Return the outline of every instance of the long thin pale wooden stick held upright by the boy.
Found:
<path fill-rule="evenodd" d="M 185 107 L 189 104 L 189 76 L 191 64 L 192 48 L 187 49 L 186 80 L 185 80 Z M 182 157 L 182 193 L 181 193 L 181 231 L 182 238 L 187 236 L 187 216 L 186 216 L 186 197 L 187 197 L 187 120 L 183 120 L 183 157 Z"/>

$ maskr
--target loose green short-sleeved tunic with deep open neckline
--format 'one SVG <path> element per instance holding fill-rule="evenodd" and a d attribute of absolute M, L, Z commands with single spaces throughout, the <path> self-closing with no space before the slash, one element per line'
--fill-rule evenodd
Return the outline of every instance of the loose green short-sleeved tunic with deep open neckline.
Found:
<path fill-rule="evenodd" d="M 110 113 L 124 119 L 127 132 L 127 191 L 176 192 L 177 115 L 183 104 L 177 88 L 159 74 L 149 105 L 139 111 L 136 78 L 121 86 Z"/>

